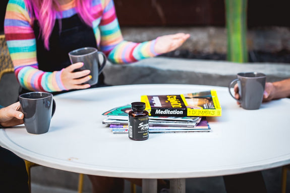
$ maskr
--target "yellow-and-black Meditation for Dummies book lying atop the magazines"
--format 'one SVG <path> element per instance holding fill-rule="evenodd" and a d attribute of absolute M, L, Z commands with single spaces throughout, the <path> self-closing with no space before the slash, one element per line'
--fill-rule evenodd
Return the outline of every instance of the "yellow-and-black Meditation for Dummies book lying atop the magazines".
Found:
<path fill-rule="evenodd" d="M 168 94 L 142 95 L 149 116 L 212 117 L 221 116 L 221 107 L 215 89 L 208 91 Z"/>

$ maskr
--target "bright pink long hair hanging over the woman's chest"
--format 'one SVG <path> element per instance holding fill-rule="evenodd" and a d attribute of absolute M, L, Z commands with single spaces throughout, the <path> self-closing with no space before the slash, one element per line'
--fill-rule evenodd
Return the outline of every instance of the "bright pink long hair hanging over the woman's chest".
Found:
<path fill-rule="evenodd" d="M 32 18 L 38 20 L 44 46 L 49 50 L 49 37 L 55 24 L 56 10 L 60 10 L 57 0 L 24 0 Z M 91 0 L 75 0 L 76 11 L 80 18 L 92 26 Z"/>

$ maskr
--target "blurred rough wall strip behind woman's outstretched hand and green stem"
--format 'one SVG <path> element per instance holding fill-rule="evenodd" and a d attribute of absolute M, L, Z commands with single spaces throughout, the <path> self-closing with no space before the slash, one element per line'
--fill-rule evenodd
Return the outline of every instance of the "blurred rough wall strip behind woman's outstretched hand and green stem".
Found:
<path fill-rule="evenodd" d="M 226 29 L 224 27 L 122 27 L 125 40 L 143 42 L 157 36 L 189 33 L 191 37 L 180 49 L 191 52 L 226 54 Z M 287 27 L 250 28 L 247 32 L 249 51 L 290 53 L 290 29 Z"/>

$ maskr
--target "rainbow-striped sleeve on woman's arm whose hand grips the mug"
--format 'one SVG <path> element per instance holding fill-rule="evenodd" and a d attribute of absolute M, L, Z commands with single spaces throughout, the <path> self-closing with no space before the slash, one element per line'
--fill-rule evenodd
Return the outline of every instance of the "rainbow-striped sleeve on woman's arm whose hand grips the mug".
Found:
<path fill-rule="evenodd" d="M 60 72 L 38 69 L 36 39 L 31 18 L 23 0 L 10 0 L 7 5 L 4 32 L 20 85 L 35 91 L 61 91 L 64 89 Z"/>

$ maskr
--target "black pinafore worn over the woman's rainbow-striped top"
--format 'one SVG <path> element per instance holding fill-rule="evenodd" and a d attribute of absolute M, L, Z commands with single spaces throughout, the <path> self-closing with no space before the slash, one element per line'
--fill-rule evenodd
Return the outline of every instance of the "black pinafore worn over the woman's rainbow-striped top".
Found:
<path fill-rule="evenodd" d="M 72 50 L 82 47 L 97 48 L 93 29 L 82 22 L 77 14 L 70 18 L 64 18 L 61 22 L 59 20 L 55 20 L 55 24 L 49 38 L 49 50 L 46 50 L 44 47 L 44 42 L 41 38 L 40 27 L 37 20 L 34 21 L 33 30 L 36 38 L 38 69 L 45 72 L 60 71 L 71 65 L 69 52 Z M 90 88 L 101 86 L 106 86 L 104 84 L 103 73 L 99 75 L 98 83 Z M 73 90 L 64 90 L 51 93 L 59 94 L 68 91 Z M 31 91 L 22 88 L 20 94 L 26 92 Z"/>

